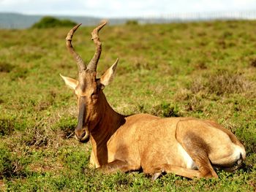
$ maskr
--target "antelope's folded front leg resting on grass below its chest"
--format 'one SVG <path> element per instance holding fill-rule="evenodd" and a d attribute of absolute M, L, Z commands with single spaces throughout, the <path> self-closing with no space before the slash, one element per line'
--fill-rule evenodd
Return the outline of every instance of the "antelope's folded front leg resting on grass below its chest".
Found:
<path fill-rule="evenodd" d="M 113 173 L 117 172 L 118 170 L 120 170 L 121 172 L 129 172 L 131 170 L 134 170 L 133 166 L 130 166 L 127 162 L 120 160 L 115 160 L 108 164 L 99 166 L 99 168 L 97 169 L 104 173 Z"/>

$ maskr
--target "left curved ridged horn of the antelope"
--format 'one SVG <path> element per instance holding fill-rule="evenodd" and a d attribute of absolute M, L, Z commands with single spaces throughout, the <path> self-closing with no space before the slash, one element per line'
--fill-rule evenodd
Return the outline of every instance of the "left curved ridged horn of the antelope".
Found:
<path fill-rule="evenodd" d="M 66 37 L 66 45 L 67 45 L 67 49 L 69 50 L 69 52 L 73 55 L 73 57 L 75 58 L 75 61 L 77 61 L 78 63 L 78 72 L 83 72 L 83 70 L 86 70 L 86 65 L 83 63 L 82 58 L 80 57 L 80 55 L 78 55 L 78 53 L 75 52 L 74 47 L 72 46 L 71 42 L 72 42 L 72 37 L 73 34 L 75 33 L 75 31 L 78 29 L 78 27 L 81 25 L 82 23 L 78 24 L 77 26 L 73 27 L 69 33 L 67 34 Z"/>

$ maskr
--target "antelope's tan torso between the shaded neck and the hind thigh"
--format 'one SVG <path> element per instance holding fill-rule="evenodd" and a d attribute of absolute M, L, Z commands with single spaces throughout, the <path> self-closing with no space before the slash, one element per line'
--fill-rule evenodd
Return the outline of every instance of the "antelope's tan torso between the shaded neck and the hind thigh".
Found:
<path fill-rule="evenodd" d="M 186 166 L 175 135 L 178 121 L 184 119 L 190 118 L 159 118 L 148 114 L 127 117 L 124 126 L 108 142 L 110 153 L 114 154 L 109 161 L 130 161 L 143 169 L 154 164 Z"/>

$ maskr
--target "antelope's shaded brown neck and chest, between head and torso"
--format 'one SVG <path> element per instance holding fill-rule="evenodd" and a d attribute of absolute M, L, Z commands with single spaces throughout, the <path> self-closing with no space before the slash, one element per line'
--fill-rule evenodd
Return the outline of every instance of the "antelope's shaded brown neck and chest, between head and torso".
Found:
<path fill-rule="evenodd" d="M 125 116 L 119 114 L 110 107 L 104 94 L 100 99 L 100 115 L 99 123 L 91 130 L 91 145 L 99 165 L 108 163 L 107 142 L 116 130 L 125 122 Z"/>

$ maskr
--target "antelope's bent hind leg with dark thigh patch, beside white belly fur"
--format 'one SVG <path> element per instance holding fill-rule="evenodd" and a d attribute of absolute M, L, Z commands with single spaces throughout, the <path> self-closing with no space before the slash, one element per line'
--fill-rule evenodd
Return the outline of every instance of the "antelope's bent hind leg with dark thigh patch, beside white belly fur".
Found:
<path fill-rule="evenodd" d="M 180 142 L 181 146 L 184 147 L 184 150 L 186 150 L 192 160 L 195 161 L 200 172 L 200 177 L 218 178 L 208 158 L 208 151 L 210 149 L 202 138 L 189 131 L 185 131 L 182 135 L 177 131 L 176 139 Z"/>

